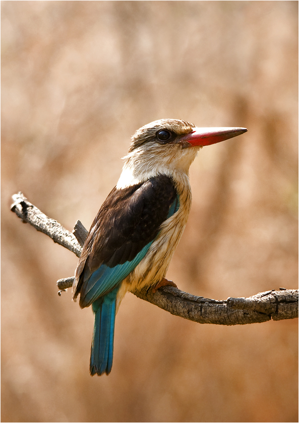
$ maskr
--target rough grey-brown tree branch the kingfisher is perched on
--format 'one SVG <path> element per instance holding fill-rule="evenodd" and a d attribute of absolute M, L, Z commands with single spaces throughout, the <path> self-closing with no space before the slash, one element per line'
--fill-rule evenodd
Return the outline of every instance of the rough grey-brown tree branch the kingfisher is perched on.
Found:
<path fill-rule="evenodd" d="M 37 230 L 50 236 L 54 242 L 80 257 L 87 230 L 78 220 L 73 233 L 66 230 L 33 206 L 22 193 L 15 194 L 11 211 L 23 222 L 28 222 Z M 61 291 L 72 286 L 73 277 L 60 279 L 57 285 Z M 244 325 L 268 320 L 294 319 L 298 317 L 298 290 L 285 289 L 261 292 L 249 298 L 214 300 L 183 292 L 173 286 L 164 286 L 156 292 L 133 292 L 138 298 L 197 323 L 217 325 Z"/>

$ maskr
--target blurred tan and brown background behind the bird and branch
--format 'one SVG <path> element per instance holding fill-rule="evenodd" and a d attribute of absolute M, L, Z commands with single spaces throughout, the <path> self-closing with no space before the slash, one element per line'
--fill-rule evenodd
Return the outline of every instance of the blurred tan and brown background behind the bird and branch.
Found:
<path fill-rule="evenodd" d="M 2 422 L 297 422 L 298 322 L 199 325 L 127 294 L 89 375 L 77 258 L 9 211 L 89 228 L 130 136 L 246 127 L 204 147 L 167 277 L 216 299 L 297 288 L 297 1 L 1 2 Z"/>

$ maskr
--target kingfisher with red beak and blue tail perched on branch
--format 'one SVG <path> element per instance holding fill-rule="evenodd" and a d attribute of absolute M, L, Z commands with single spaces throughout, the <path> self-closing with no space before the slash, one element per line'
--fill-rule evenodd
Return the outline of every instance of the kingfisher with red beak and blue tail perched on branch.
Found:
<path fill-rule="evenodd" d="M 189 167 L 206 145 L 246 128 L 197 128 L 160 119 L 131 138 L 117 185 L 104 201 L 83 245 L 72 299 L 92 306 L 90 374 L 109 374 L 115 319 L 126 292 L 173 284 L 165 276 L 191 207 Z"/>

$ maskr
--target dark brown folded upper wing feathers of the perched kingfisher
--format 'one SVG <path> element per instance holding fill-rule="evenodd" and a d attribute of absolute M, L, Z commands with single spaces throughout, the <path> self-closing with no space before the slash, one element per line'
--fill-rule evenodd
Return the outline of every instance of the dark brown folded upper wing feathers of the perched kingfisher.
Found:
<path fill-rule="evenodd" d="M 121 190 L 115 187 L 94 219 L 83 246 L 74 298 L 83 280 L 102 264 L 114 267 L 131 261 L 154 240 L 176 196 L 174 183 L 166 175 Z"/>

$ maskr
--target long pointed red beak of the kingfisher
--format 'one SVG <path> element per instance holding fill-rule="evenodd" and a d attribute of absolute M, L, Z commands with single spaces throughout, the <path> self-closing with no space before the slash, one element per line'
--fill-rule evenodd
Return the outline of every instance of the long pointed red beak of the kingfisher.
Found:
<path fill-rule="evenodd" d="M 185 147 L 211 145 L 237 137 L 244 132 L 247 132 L 246 128 L 193 128 L 193 131 L 184 135 L 179 142 Z"/>

